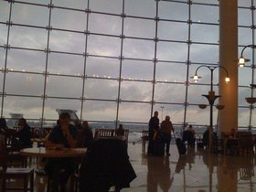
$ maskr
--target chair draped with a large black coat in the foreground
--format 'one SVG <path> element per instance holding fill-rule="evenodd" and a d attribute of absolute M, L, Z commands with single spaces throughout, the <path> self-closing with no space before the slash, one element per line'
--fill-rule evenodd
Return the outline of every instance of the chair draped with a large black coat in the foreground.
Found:
<path fill-rule="evenodd" d="M 91 145 L 80 165 L 80 191 L 108 191 L 113 186 L 119 191 L 130 187 L 135 177 L 126 143 L 101 139 Z"/>

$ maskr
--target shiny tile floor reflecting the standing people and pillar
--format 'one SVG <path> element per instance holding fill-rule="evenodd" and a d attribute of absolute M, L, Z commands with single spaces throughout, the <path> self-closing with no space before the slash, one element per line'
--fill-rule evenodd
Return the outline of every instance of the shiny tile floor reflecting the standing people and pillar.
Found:
<path fill-rule="evenodd" d="M 196 148 L 179 157 L 175 144 L 169 157 L 144 155 L 142 144 L 129 144 L 128 153 L 137 177 L 122 192 L 256 191 L 255 156 L 217 155 Z M 46 191 L 46 176 L 36 175 L 35 187 Z"/>

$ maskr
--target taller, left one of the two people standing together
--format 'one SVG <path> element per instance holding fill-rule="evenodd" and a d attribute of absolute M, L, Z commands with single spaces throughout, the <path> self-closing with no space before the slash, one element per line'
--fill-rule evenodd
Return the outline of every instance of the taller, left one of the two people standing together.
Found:
<path fill-rule="evenodd" d="M 154 133 L 159 131 L 159 119 L 158 112 L 154 112 L 154 116 L 151 117 L 148 123 L 148 145 L 147 145 L 147 155 L 153 155 L 153 137 Z"/>

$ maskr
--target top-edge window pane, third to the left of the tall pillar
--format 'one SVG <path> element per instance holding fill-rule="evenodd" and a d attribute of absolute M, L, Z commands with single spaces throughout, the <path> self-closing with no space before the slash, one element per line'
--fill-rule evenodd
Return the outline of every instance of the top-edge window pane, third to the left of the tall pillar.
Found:
<path fill-rule="evenodd" d="M 155 17 L 155 1 L 147 1 L 146 6 L 144 0 L 124 1 L 124 12 L 128 16 L 145 16 Z"/>

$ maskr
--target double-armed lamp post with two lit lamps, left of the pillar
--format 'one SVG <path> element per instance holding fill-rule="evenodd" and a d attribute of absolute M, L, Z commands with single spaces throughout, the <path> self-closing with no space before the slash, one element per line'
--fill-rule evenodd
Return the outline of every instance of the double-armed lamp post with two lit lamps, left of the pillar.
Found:
<path fill-rule="evenodd" d="M 208 95 L 202 95 L 202 96 L 204 96 L 208 99 L 208 103 L 209 103 L 209 107 L 210 107 L 210 110 L 209 110 L 209 128 L 210 128 L 210 130 L 209 130 L 209 137 L 208 137 L 208 146 L 209 146 L 209 149 L 211 149 L 211 144 L 212 144 L 211 134 L 212 134 L 212 128 L 213 128 L 212 127 L 213 126 L 212 125 L 213 124 L 213 105 L 214 105 L 214 102 L 216 101 L 216 99 L 220 97 L 220 95 L 215 95 L 215 91 L 213 91 L 213 71 L 218 68 L 225 70 L 226 71 L 226 78 L 225 78 L 226 82 L 229 82 L 229 74 L 228 74 L 228 70 L 222 66 L 212 67 L 212 66 L 207 66 L 207 65 L 201 65 L 196 69 L 195 75 L 193 77 L 191 77 L 195 82 L 197 82 L 201 78 L 197 75 L 198 69 L 201 69 L 201 68 L 206 68 L 206 69 L 210 70 L 210 91 L 208 91 Z M 201 109 L 205 109 L 207 107 L 207 105 L 199 105 L 199 107 Z M 217 109 L 221 110 L 223 108 L 224 108 L 224 106 L 217 105 Z"/>

